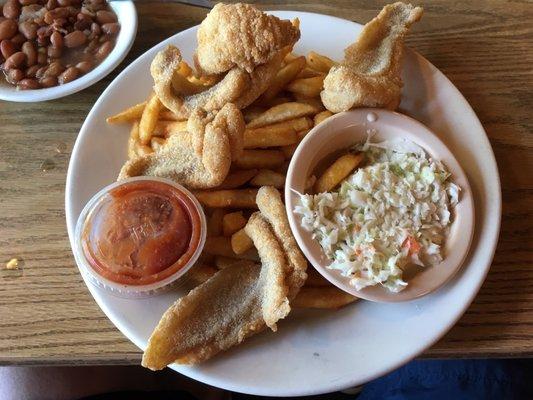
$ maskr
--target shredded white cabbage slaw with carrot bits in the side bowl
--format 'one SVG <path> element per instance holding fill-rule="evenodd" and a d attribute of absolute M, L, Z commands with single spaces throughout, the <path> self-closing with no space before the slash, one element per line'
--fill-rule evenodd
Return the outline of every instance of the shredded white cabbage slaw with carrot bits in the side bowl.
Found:
<path fill-rule="evenodd" d="M 413 142 L 397 139 L 356 146 L 365 164 L 337 191 L 300 195 L 295 213 L 312 232 L 328 268 L 350 278 L 356 290 L 407 286 L 408 263 L 422 267 L 443 260 L 442 246 L 460 188 L 444 165 Z"/>

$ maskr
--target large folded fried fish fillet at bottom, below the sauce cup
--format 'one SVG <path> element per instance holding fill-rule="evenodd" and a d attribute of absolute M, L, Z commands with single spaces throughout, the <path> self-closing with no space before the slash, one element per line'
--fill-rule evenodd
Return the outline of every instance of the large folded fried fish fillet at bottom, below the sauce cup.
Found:
<path fill-rule="evenodd" d="M 288 228 L 279 192 L 259 189 L 257 205 L 245 229 L 261 265 L 231 265 L 176 301 L 152 333 L 143 366 L 200 363 L 267 327 L 275 331 L 289 314 L 290 300 L 307 278 L 307 262 Z"/>

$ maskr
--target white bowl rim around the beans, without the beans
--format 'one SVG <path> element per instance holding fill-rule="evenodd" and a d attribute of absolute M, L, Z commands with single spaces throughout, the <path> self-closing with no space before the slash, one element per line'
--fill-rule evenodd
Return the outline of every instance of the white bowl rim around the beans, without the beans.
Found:
<path fill-rule="evenodd" d="M 23 103 L 58 99 L 91 86 L 113 71 L 126 57 L 135 40 L 137 11 L 131 0 L 110 1 L 109 5 L 117 14 L 120 32 L 115 47 L 101 64 L 72 82 L 47 89 L 17 90 L 15 86 L 2 82 L 0 84 L 0 99 Z"/>

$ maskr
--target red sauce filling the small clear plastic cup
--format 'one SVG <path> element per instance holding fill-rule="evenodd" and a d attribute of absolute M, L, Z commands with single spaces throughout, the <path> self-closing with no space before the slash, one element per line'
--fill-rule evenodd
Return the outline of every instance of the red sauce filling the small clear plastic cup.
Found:
<path fill-rule="evenodd" d="M 200 230 L 199 211 L 185 193 L 164 182 L 139 180 L 111 189 L 93 209 L 82 247 L 105 278 L 146 285 L 187 264 Z"/>

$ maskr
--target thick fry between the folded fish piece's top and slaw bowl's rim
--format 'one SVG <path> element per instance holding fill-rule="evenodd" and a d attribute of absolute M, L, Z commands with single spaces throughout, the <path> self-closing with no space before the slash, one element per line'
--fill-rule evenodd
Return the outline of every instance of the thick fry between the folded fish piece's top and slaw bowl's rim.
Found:
<path fill-rule="evenodd" d="M 276 147 L 297 143 L 298 132 L 311 125 L 309 118 L 301 117 L 261 128 L 247 128 L 244 131 L 244 148 Z"/>

